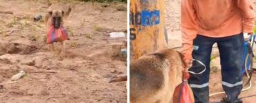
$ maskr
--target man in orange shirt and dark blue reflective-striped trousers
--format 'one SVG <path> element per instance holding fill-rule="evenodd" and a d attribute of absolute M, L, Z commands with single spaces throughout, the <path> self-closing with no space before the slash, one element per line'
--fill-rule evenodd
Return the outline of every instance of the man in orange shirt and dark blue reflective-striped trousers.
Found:
<path fill-rule="evenodd" d="M 217 43 L 221 58 L 222 87 L 226 98 L 221 102 L 240 103 L 242 89 L 241 55 L 243 34 L 253 34 L 255 13 L 250 0 L 182 0 L 181 31 L 185 71 L 200 72 L 204 68 L 192 58 L 205 64 L 200 75 L 190 74 L 188 80 L 196 103 L 209 102 L 210 55 Z M 192 65 L 192 67 L 190 67 Z"/>

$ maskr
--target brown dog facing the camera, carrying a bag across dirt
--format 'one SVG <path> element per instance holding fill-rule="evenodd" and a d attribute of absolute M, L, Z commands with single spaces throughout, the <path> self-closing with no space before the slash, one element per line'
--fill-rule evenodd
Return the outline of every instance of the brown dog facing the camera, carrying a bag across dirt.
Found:
<path fill-rule="evenodd" d="M 48 27 L 53 23 L 53 26 L 55 28 L 59 28 L 61 25 L 64 24 L 64 19 L 70 14 L 71 8 L 68 8 L 67 12 L 64 12 L 62 10 L 50 10 L 46 15 L 44 16 L 44 22 L 46 23 L 46 31 L 48 30 Z M 60 41 L 61 44 L 61 56 L 65 55 L 65 45 L 63 41 Z M 53 43 L 49 46 L 51 52 L 55 55 L 55 49 Z"/>

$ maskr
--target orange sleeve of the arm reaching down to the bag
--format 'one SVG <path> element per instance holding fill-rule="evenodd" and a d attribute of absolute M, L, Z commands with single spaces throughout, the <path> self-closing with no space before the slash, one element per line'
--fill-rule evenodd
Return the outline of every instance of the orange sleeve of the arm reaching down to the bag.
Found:
<path fill-rule="evenodd" d="M 198 34 L 196 11 L 192 0 L 181 0 L 181 33 L 183 45 L 183 60 L 192 59 L 193 40 Z"/>

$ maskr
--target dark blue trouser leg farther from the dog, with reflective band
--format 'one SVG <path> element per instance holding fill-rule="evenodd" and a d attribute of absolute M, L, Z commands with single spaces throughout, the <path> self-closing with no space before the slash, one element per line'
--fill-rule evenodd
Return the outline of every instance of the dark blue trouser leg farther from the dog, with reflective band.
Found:
<path fill-rule="evenodd" d="M 235 102 L 242 89 L 242 53 L 244 49 L 244 36 L 238 34 L 217 41 L 221 57 L 222 87 L 227 99 Z"/>

